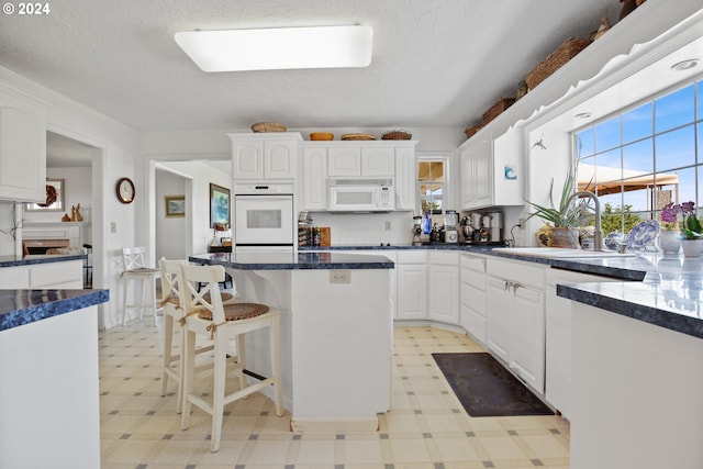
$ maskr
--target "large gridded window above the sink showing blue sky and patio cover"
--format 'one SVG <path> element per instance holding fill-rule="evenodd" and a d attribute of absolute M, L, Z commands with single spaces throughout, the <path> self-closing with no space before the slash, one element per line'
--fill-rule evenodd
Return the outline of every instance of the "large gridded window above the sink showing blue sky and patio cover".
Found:
<path fill-rule="evenodd" d="M 693 201 L 698 208 L 703 203 L 703 81 L 582 130 L 574 144 L 579 190 L 599 196 L 606 234 L 659 220 L 669 202 Z"/>

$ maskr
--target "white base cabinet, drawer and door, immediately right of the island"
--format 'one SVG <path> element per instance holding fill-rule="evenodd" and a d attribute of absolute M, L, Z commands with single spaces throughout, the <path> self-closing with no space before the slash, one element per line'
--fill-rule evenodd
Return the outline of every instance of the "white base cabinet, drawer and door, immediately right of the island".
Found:
<path fill-rule="evenodd" d="M 426 250 L 398 252 L 395 319 L 427 319 L 427 270 Z"/>

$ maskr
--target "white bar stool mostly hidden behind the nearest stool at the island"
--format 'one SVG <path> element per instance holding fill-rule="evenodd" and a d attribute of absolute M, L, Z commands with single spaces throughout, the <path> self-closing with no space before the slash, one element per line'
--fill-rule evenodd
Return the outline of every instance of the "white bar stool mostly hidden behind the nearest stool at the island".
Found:
<path fill-rule="evenodd" d="M 161 359 L 161 395 L 166 395 L 168 388 L 168 379 L 171 378 L 176 381 L 178 387 L 178 400 L 176 402 L 176 412 L 180 413 L 182 409 L 182 393 L 183 393 L 183 380 L 181 379 L 181 372 L 183 369 L 182 364 L 182 350 L 183 350 L 183 334 L 176 333 L 181 330 L 181 321 L 183 320 L 182 309 L 182 295 L 179 290 L 178 277 L 180 276 L 181 266 L 187 266 L 188 260 L 168 260 L 161 258 L 159 260 L 159 271 L 161 278 L 161 292 L 163 299 L 160 306 L 164 309 L 164 353 Z M 221 292 L 220 298 L 223 304 L 231 304 L 238 302 L 239 300 L 233 294 L 227 292 Z M 174 344 L 174 337 L 178 337 L 177 344 Z M 174 345 L 177 345 L 177 351 L 174 350 Z M 203 354 L 211 351 L 213 345 L 204 345 L 196 350 L 196 354 Z M 205 364 L 201 368 L 212 368 L 211 365 Z"/>

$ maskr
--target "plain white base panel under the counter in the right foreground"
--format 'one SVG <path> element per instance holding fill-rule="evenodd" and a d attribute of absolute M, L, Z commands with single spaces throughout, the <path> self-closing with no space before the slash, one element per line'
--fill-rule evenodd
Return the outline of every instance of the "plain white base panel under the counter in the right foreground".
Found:
<path fill-rule="evenodd" d="M 572 311 L 571 469 L 703 468 L 703 339 Z"/>

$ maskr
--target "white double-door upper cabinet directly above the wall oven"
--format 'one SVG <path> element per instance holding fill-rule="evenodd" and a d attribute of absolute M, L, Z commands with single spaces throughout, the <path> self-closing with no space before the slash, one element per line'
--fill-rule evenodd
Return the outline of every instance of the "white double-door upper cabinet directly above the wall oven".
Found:
<path fill-rule="evenodd" d="M 300 134 L 228 135 L 232 138 L 232 177 L 235 180 L 295 179 Z"/>

